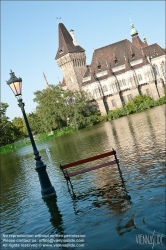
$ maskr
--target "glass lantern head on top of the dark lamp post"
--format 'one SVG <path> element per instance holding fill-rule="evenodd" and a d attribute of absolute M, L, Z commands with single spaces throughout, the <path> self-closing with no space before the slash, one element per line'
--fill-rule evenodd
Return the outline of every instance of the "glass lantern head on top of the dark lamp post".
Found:
<path fill-rule="evenodd" d="M 13 91 L 14 95 L 20 96 L 21 90 L 22 90 L 22 79 L 19 77 L 17 78 L 14 74 L 14 72 L 12 72 L 12 70 L 10 71 L 10 79 L 8 81 L 6 81 L 7 84 L 9 85 L 9 87 L 11 88 L 11 90 Z"/>

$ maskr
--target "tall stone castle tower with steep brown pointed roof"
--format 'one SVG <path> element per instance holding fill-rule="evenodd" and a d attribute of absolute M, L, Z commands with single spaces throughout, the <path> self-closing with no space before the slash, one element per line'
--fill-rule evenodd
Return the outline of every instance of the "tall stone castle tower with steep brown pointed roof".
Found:
<path fill-rule="evenodd" d="M 78 45 L 73 30 L 70 34 L 63 23 L 59 23 L 58 28 L 59 48 L 55 60 L 62 70 L 66 87 L 79 90 L 86 71 L 85 50 Z"/>

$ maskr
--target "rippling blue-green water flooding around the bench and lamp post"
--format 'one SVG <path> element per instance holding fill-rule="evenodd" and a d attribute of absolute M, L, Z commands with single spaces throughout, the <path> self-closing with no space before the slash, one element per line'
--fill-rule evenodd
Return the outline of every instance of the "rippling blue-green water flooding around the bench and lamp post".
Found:
<path fill-rule="evenodd" d="M 164 106 L 37 147 L 57 197 L 41 198 L 31 146 L 1 156 L 1 249 L 165 249 Z M 68 190 L 60 164 L 112 148 L 122 177 L 112 165 L 72 177 Z"/>

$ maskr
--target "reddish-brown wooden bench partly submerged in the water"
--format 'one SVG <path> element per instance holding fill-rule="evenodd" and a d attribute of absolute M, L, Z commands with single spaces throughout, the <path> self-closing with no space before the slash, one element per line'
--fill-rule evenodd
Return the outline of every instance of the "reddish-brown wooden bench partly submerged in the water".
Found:
<path fill-rule="evenodd" d="M 101 159 L 101 158 L 105 158 L 105 157 L 108 157 L 108 156 L 111 156 L 111 155 L 114 156 L 114 158 L 115 158 L 114 160 L 111 160 L 109 162 L 96 165 L 94 167 L 89 167 L 89 168 L 85 168 L 85 169 L 82 169 L 82 170 L 78 170 L 78 171 L 75 171 L 75 172 L 71 172 L 71 173 L 67 172 L 67 168 L 75 167 L 75 166 L 78 166 L 78 165 L 81 165 L 81 164 L 84 164 L 84 163 L 87 163 L 87 162 L 95 161 L 95 160 L 98 160 L 98 159 Z M 65 179 L 70 181 L 70 177 L 73 177 L 75 175 L 83 174 L 85 172 L 89 172 L 89 171 L 92 171 L 92 170 L 95 170 L 95 169 L 107 167 L 107 166 L 110 166 L 110 165 L 113 165 L 113 164 L 118 165 L 118 170 L 120 171 L 120 174 L 121 174 L 121 170 L 119 168 L 119 159 L 117 159 L 116 151 L 114 149 L 112 149 L 112 151 L 104 153 L 104 154 L 100 154 L 100 155 L 92 156 L 92 157 L 89 157 L 89 158 L 86 158 L 86 159 L 83 159 L 83 160 L 67 163 L 65 165 L 60 165 L 60 168 L 61 168 L 61 170 L 62 170 L 62 172 L 64 174 Z"/>

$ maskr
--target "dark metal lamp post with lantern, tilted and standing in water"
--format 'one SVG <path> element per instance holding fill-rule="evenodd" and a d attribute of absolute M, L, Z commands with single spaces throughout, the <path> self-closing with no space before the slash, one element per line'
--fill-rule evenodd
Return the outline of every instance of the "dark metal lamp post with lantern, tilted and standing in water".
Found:
<path fill-rule="evenodd" d="M 10 79 L 8 81 L 6 81 L 7 84 L 9 85 L 9 87 L 11 88 L 11 90 L 13 91 L 14 95 L 17 97 L 18 100 L 18 106 L 21 108 L 24 120 L 25 120 L 25 124 L 27 127 L 27 131 L 29 134 L 29 138 L 32 144 L 32 148 L 33 148 L 33 153 L 35 156 L 35 160 L 36 160 L 36 167 L 35 170 L 38 173 L 39 176 L 39 180 L 40 180 L 40 185 L 41 185 L 41 194 L 42 194 L 42 198 L 51 196 L 51 195 L 56 195 L 55 193 L 55 189 L 54 187 L 51 185 L 49 176 L 47 174 L 46 171 L 46 165 L 42 162 L 41 160 L 41 156 L 39 155 L 39 151 L 37 150 L 35 141 L 33 139 L 33 135 L 31 132 L 31 128 L 29 126 L 29 122 L 25 113 L 25 109 L 24 106 L 25 104 L 23 103 L 23 100 L 21 98 L 21 87 L 22 87 L 22 79 L 21 78 L 17 78 L 14 74 L 14 72 L 10 72 Z"/>

